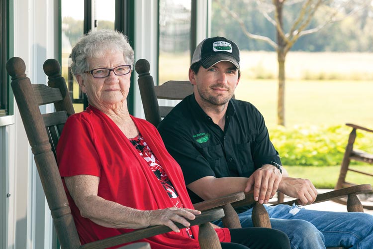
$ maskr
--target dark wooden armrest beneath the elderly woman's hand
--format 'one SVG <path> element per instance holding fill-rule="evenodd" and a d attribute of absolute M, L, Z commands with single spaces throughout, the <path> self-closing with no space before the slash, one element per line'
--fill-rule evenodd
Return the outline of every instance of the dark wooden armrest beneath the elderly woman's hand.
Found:
<path fill-rule="evenodd" d="M 211 221 L 219 220 L 224 217 L 223 209 L 215 209 L 203 212 L 200 215 L 196 215 L 194 220 L 188 220 L 190 226 L 200 225 Z M 186 228 L 185 226 L 176 223 L 178 228 Z M 148 228 L 138 229 L 130 233 L 110 237 L 100 241 L 84 244 L 80 249 L 105 249 L 107 247 L 113 247 L 116 245 L 138 241 L 144 238 L 153 237 L 156 235 L 171 232 L 172 230 L 163 225 L 152 226 Z"/>

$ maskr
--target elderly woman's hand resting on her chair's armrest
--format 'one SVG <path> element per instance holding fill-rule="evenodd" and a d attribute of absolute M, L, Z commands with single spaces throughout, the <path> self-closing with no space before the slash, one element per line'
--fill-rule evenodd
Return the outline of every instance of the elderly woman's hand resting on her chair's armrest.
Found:
<path fill-rule="evenodd" d="M 199 215 L 201 213 L 198 210 L 187 208 L 167 208 L 145 212 L 149 221 L 149 226 L 165 225 L 177 233 L 179 233 L 180 230 L 174 222 L 178 222 L 185 227 L 189 227 L 190 223 L 187 221 L 187 219 L 194 220 L 195 215 Z"/>

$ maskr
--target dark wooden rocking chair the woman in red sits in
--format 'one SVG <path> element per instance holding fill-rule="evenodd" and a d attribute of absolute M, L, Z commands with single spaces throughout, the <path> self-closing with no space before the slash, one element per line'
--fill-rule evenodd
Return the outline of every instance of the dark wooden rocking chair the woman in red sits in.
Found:
<path fill-rule="evenodd" d="M 44 72 L 48 75 L 48 86 L 31 84 L 25 74 L 25 63 L 21 58 L 13 57 L 6 63 L 6 70 L 11 76 L 11 87 L 24 124 L 28 141 L 51 210 L 53 223 L 62 249 L 104 249 L 143 238 L 170 232 L 166 226 L 153 226 L 139 229 L 131 233 L 80 245 L 79 236 L 68 204 L 62 179 L 56 162 L 56 145 L 67 118 L 74 114 L 73 105 L 64 78 L 60 74 L 61 67 L 54 59 L 47 60 Z M 41 114 L 39 106 L 53 103 L 56 112 Z M 190 224 L 199 225 L 199 242 L 202 249 L 221 249 L 210 221 L 224 216 L 219 206 L 242 200 L 243 193 L 201 203 L 200 209 L 213 209 L 198 215 Z M 228 209 L 224 208 L 224 210 Z M 237 217 L 238 219 L 238 217 Z M 179 228 L 184 228 L 179 225 Z M 149 244 L 135 243 L 123 249 L 149 249 Z"/>

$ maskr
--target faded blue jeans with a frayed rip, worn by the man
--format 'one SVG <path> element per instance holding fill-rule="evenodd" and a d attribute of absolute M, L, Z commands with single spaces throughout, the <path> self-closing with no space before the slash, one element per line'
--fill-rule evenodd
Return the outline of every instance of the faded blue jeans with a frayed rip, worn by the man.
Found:
<path fill-rule="evenodd" d="M 373 216 L 370 214 L 315 211 L 288 205 L 265 207 L 272 228 L 289 237 L 292 249 L 373 248 Z M 252 211 L 249 209 L 238 215 L 243 228 L 254 226 Z M 221 221 L 215 224 L 223 226 Z"/>

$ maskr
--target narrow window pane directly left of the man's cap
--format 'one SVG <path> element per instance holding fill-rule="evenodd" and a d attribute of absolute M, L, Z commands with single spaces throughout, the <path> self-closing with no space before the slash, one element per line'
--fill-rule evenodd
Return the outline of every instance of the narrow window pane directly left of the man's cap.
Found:
<path fill-rule="evenodd" d="M 191 0 L 159 1 L 159 84 L 188 80 Z"/>

